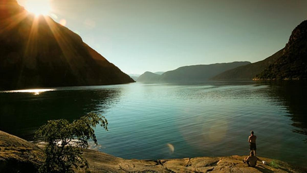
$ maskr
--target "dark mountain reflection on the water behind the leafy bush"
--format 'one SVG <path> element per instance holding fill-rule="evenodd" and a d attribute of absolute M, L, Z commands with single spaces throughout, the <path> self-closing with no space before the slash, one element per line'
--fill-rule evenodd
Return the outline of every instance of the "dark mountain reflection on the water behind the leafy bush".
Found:
<path fill-rule="evenodd" d="M 120 93 L 116 88 L 50 91 L 39 95 L 0 93 L 0 130 L 31 140 L 33 131 L 48 120 L 72 121 L 88 112 L 104 110 Z"/>

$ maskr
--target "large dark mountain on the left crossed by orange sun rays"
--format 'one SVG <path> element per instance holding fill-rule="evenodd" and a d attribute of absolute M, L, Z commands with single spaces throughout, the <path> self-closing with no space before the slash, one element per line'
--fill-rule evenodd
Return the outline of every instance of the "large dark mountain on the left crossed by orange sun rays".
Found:
<path fill-rule="evenodd" d="M 0 3 L 0 89 L 134 82 L 50 17 Z"/>

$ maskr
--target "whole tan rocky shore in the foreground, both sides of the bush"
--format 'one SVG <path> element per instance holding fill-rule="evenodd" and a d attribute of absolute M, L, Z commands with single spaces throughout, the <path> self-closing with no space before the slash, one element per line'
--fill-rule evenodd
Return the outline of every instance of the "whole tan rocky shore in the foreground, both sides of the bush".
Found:
<path fill-rule="evenodd" d="M 307 172 L 306 168 L 258 157 L 256 167 L 242 162 L 246 156 L 196 157 L 184 159 L 122 159 L 99 151 L 84 150 L 91 172 Z M 0 131 L 0 172 L 36 172 L 45 158 L 37 145 Z M 84 172 L 86 170 L 77 170 Z"/>

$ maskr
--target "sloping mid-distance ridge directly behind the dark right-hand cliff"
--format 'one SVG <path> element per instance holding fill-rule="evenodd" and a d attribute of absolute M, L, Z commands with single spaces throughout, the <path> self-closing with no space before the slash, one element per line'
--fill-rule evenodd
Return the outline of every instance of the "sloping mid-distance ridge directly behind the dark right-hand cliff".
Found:
<path fill-rule="evenodd" d="M 239 66 L 237 68 L 224 71 L 221 74 L 214 76 L 211 79 L 214 80 L 221 80 L 221 79 L 253 79 L 257 74 L 262 72 L 267 66 L 274 63 L 278 58 L 282 56 L 283 49 L 279 50 L 275 54 L 271 55 L 270 57 L 258 61 L 255 63 L 247 64 L 245 66 Z"/>

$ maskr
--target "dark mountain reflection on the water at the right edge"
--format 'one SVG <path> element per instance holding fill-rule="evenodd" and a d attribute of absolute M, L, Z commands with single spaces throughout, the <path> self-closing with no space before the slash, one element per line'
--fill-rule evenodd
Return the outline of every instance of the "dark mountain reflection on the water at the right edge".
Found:
<path fill-rule="evenodd" d="M 289 116 L 293 121 L 292 125 L 297 127 L 294 132 L 307 135 L 307 81 L 280 81 L 270 84 L 272 89 L 267 94 L 281 99 L 279 103 L 284 103 L 289 111 Z M 307 143 L 307 138 L 305 139 Z"/>

